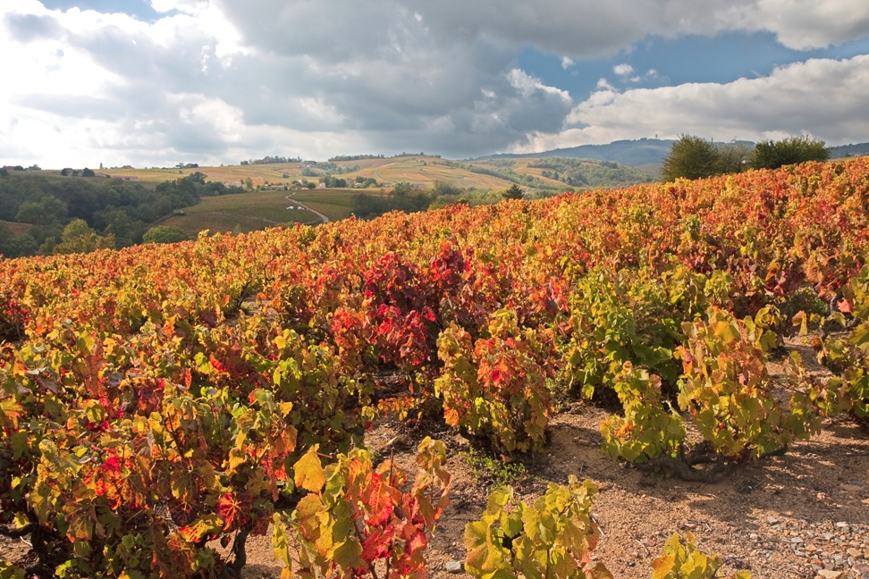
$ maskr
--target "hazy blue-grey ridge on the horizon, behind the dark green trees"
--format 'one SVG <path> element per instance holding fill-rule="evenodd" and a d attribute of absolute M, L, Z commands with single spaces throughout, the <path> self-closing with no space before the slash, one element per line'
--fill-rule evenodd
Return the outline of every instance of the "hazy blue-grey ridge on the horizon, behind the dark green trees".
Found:
<path fill-rule="evenodd" d="M 475 159 L 531 159 L 548 157 L 575 157 L 580 159 L 592 159 L 595 161 L 614 161 L 626 164 L 630 167 L 643 165 L 659 165 L 670 155 L 670 150 L 675 141 L 658 138 L 640 138 L 638 140 L 614 141 L 609 145 L 580 145 L 579 147 L 558 148 L 543 153 L 527 153 L 525 155 L 489 155 Z M 751 141 L 737 141 L 741 145 L 754 147 Z M 856 145 L 842 145 L 831 148 L 831 158 L 840 159 L 846 156 L 869 155 L 869 143 Z M 653 169 L 654 172 L 654 169 Z"/>

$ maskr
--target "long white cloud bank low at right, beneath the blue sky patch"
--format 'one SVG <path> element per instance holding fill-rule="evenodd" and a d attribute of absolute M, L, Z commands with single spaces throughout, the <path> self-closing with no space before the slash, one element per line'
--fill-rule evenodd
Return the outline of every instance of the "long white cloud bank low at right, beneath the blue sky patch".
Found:
<path fill-rule="evenodd" d="M 681 133 L 720 141 L 809 134 L 831 143 L 859 142 L 869 135 L 867 93 L 869 55 L 813 59 L 729 84 L 603 90 L 570 113 L 568 122 L 576 128 L 540 135 L 519 150 Z"/>

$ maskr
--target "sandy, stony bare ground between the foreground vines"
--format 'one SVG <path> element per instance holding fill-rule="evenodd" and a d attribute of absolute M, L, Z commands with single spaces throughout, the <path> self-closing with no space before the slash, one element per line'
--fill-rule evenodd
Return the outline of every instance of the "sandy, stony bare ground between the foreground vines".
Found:
<path fill-rule="evenodd" d="M 869 440 L 858 425 L 829 421 L 820 436 L 797 443 L 787 455 L 704 484 L 659 480 L 604 457 L 598 425 L 607 415 L 583 405 L 559 415 L 544 455 L 528 459 L 528 475 L 512 483 L 522 499 L 533 500 L 548 483 L 566 483 L 569 474 L 594 481 L 601 492 L 593 513 L 605 533 L 595 557 L 615 577 L 650 577 L 648 564 L 661 555 L 664 541 L 686 531 L 696 534 L 701 550 L 724 558 L 725 571 L 747 569 L 757 579 L 812 578 L 824 566 L 847 571 L 843 577 L 861 577 L 852 569 L 869 564 Z M 464 560 L 464 527 L 485 508 L 489 481 L 471 473 L 459 455 L 467 447 L 458 435 L 426 431 L 381 424 L 367 441 L 375 450 L 393 449 L 396 463 L 409 471 L 424 436 L 448 443 L 451 505 L 434 534 L 428 561 L 433 577 L 458 579 L 466 575 L 446 573 L 444 566 Z M 843 484 L 860 490 L 846 491 Z M 249 539 L 244 576 L 280 576 L 272 557 L 269 537 Z"/>

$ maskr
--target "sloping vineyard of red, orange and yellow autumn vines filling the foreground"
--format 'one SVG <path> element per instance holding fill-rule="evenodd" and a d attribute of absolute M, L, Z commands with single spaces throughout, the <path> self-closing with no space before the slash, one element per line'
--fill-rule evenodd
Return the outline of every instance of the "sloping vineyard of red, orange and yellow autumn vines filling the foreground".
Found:
<path fill-rule="evenodd" d="M 236 577 L 264 533 L 302 577 L 425 576 L 460 495 L 442 441 L 367 449 L 384 417 L 520 462 L 615 406 L 595 452 L 692 483 L 865 437 L 867 255 L 856 159 L 0 262 L 0 534 L 32 547 L 0 578 Z M 468 575 L 613 576 L 573 474 L 494 489 Z M 637 576 L 721 565 L 683 533 Z"/>

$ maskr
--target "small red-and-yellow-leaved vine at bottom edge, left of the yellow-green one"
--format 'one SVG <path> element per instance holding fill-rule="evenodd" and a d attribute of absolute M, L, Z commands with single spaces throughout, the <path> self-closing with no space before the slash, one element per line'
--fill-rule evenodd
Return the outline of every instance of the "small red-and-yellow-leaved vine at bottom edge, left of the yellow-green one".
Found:
<path fill-rule="evenodd" d="M 274 515 L 274 553 L 287 566 L 282 576 L 293 569 L 308 577 L 376 578 L 381 560 L 388 578 L 426 573 L 428 535 L 448 502 L 443 442 L 419 444 L 409 491 L 401 490 L 408 475 L 391 460 L 375 469 L 367 450 L 355 449 L 324 468 L 316 450 L 293 468 L 296 486 L 308 495 L 291 516 Z"/>

